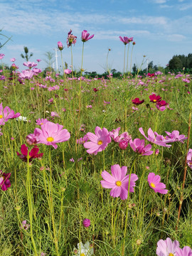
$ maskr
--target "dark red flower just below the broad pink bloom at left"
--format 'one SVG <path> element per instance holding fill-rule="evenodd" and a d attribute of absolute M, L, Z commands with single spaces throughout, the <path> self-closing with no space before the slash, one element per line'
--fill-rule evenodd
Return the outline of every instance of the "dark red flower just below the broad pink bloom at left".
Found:
<path fill-rule="evenodd" d="M 25 144 L 23 144 L 21 145 L 21 154 L 19 154 L 18 152 L 16 152 L 16 154 L 23 161 L 27 161 L 27 159 L 28 161 L 32 161 L 32 159 L 43 156 L 43 153 L 38 154 L 38 151 L 38 146 L 34 146 L 33 149 L 31 149 L 31 151 L 28 152 L 28 147 Z"/>

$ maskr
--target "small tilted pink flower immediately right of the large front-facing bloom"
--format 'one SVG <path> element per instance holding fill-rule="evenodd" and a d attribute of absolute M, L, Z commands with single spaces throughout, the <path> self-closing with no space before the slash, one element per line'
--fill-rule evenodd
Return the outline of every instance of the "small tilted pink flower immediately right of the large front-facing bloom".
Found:
<path fill-rule="evenodd" d="M 149 173 L 147 181 L 149 183 L 150 188 L 152 188 L 155 193 L 162 193 L 166 194 L 168 193 L 166 188 L 166 185 L 164 183 L 161 183 L 161 177 L 159 175 L 155 175 L 154 173 Z"/>

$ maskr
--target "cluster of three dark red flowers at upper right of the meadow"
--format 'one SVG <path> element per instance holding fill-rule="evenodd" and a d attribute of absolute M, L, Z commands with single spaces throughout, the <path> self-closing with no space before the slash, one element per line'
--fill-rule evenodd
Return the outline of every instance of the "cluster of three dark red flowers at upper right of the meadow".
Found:
<path fill-rule="evenodd" d="M 169 107 L 169 104 L 165 100 L 161 100 L 161 97 L 159 95 L 156 95 L 155 93 L 152 93 L 149 96 L 150 102 L 156 103 L 156 108 L 160 111 L 166 110 L 166 107 Z M 139 100 L 138 97 L 136 97 L 134 100 L 132 100 L 134 105 L 140 105 L 144 102 L 144 100 Z"/>

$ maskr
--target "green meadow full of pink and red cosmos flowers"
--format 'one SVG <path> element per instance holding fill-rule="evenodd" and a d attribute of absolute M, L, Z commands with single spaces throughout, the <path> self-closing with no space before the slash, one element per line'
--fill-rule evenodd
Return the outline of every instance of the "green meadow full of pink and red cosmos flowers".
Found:
<path fill-rule="evenodd" d="M 191 256 L 191 75 L 36 64 L 0 73 L 0 255 Z"/>

